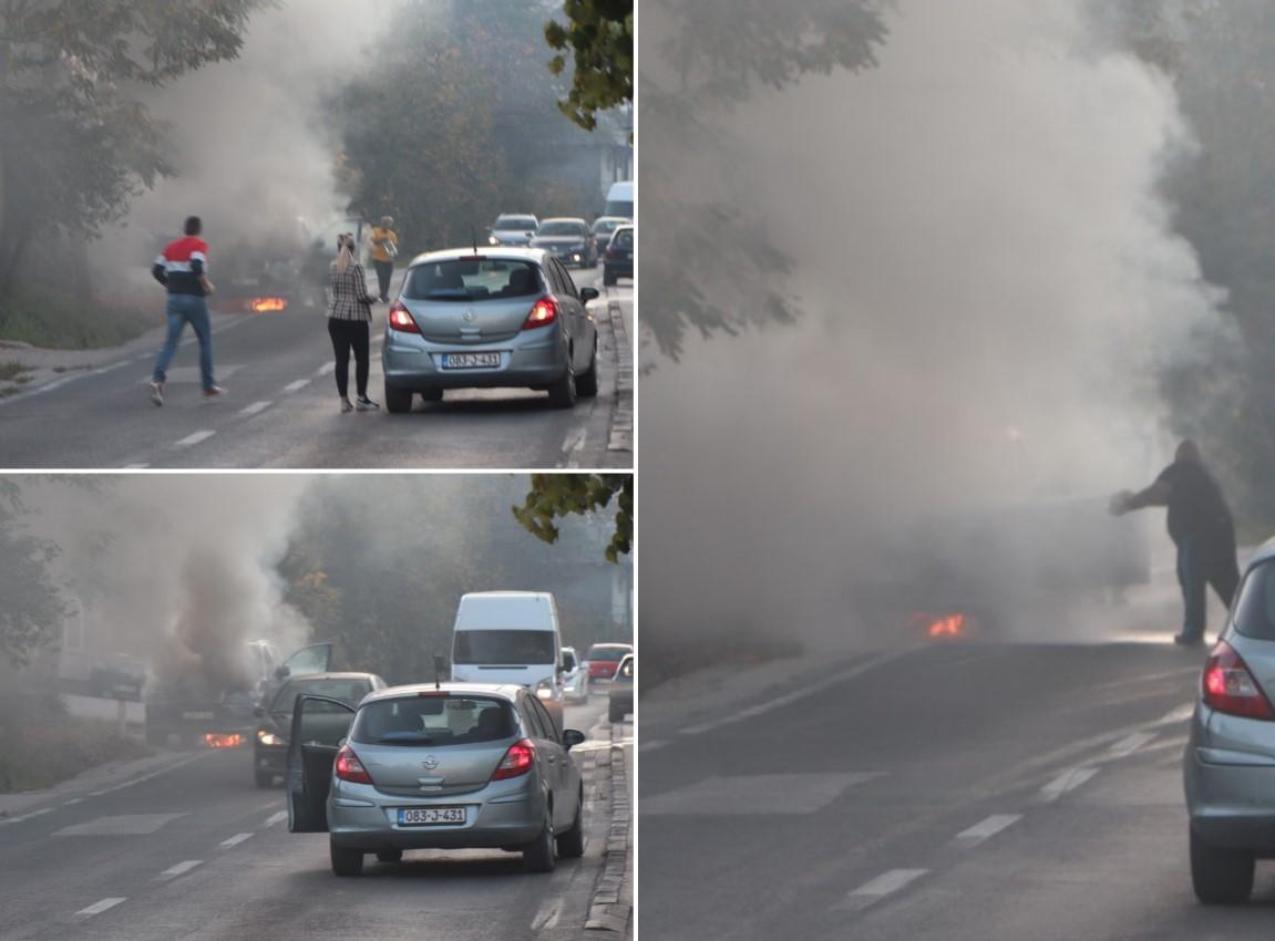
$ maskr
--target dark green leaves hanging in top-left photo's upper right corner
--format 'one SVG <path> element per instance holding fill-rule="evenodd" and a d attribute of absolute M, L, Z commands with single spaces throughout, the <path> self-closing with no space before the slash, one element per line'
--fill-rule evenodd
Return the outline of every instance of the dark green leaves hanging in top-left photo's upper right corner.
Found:
<path fill-rule="evenodd" d="M 544 38 L 560 50 L 550 70 L 561 75 L 571 56 L 571 91 L 558 107 L 585 130 L 598 112 L 634 99 L 632 0 L 566 0 L 567 23 L 550 22 Z"/>

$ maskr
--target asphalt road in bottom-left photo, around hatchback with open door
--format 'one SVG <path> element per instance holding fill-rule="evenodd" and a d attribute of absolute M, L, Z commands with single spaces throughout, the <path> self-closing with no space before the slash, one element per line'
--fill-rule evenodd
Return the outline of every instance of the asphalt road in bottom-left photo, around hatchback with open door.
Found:
<path fill-rule="evenodd" d="M 601 697 L 567 708 L 567 727 L 592 729 L 586 769 L 590 748 L 611 748 L 603 709 Z M 590 771 L 586 812 L 597 792 Z M 0 824 L 3 941 L 579 938 L 608 826 L 590 813 L 584 858 L 551 875 L 525 873 L 516 854 L 454 850 L 338 879 L 326 836 L 289 834 L 282 788 L 252 785 L 247 751 L 191 752 L 22 816 Z"/>

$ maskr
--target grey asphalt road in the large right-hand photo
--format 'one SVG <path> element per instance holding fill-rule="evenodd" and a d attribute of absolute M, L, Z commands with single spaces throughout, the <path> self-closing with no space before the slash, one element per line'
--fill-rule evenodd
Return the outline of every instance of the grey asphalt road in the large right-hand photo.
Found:
<path fill-rule="evenodd" d="M 672 714 L 653 691 L 640 936 L 1269 937 L 1275 864 L 1248 905 L 1191 891 L 1179 761 L 1202 659 L 931 644 L 830 659 L 729 709 Z"/>

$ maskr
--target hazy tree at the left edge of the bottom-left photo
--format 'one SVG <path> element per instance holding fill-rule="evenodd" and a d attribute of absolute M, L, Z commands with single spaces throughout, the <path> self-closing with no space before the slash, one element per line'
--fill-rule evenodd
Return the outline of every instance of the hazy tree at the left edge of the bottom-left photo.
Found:
<path fill-rule="evenodd" d="M 0 479 L 0 657 L 26 667 L 57 640 L 68 606 L 52 574 L 57 546 L 33 536 L 17 482 Z"/>

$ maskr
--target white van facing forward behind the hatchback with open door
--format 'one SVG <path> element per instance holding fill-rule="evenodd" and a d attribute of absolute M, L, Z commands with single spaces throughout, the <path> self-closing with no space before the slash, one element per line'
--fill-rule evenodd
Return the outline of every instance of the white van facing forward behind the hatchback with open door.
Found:
<path fill-rule="evenodd" d="M 548 592 L 470 592 L 456 607 L 451 678 L 519 683 L 562 714 L 562 634 Z"/>

